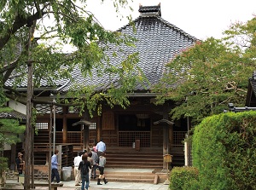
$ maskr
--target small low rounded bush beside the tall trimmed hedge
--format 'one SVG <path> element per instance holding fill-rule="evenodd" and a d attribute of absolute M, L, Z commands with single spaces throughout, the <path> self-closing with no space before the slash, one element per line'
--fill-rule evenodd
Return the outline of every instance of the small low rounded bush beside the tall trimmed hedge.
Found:
<path fill-rule="evenodd" d="M 197 190 L 198 170 L 195 167 L 174 167 L 171 171 L 171 190 Z"/>

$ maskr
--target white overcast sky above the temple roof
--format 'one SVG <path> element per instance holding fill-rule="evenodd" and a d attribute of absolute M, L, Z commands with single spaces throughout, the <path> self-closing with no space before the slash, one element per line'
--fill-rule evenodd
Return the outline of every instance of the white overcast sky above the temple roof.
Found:
<path fill-rule="evenodd" d="M 113 8 L 113 0 L 87 0 L 90 10 L 105 29 L 115 31 L 128 24 L 127 19 L 117 16 Z M 131 1 L 130 1 L 131 2 Z M 135 20 L 138 16 L 139 4 L 154 6 L 160 3 L 161 17 L 198 39 L 207 37 L 221 38 L 222 32 L 231 23 L 246 22 L 256 14 L 256 0 L 133 0 L 129 3 L 133 11 L 120 9 L 126 17 L 131 14 Z"/>

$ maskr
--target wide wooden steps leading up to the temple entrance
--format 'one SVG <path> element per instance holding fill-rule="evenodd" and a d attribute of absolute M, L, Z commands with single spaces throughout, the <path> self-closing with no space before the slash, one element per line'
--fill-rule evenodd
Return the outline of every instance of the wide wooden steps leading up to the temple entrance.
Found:
<path fill-rule="evenodd" d="M 172 148 L 171 154 L 172 167 L 184 165 L 183 147 Z M 132 147 L 108 147 L 106 158 L 104 172 L 108 181 L 154 184 L 166 181 L 166 170 L 162 170 L 162 148 L 141 147 L 136 151 Z"/>

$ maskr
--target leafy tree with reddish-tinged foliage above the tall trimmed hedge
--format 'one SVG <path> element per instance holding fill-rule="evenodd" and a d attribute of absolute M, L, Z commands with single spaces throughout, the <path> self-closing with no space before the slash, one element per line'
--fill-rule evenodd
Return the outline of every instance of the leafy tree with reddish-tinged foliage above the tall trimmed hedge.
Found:
<path fill-rule="evenodd" d="M 198 124 L 223 112 L 229 102 L 244 106 L 247 79 L 255 70 L 255 22 L 235 23 L 225 38 L 197 42 L 168 64 L 154 91 L 162 93 L 158 103 L 176 102 L 173 119 L 190 117 Z"/>

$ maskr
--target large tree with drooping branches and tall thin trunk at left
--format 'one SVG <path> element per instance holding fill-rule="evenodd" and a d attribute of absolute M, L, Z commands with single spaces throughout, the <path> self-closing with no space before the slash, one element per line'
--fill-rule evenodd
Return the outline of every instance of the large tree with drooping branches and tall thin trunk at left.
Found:
<path fill-rule="evenodd" d="M 42 81 L 57 87 L 59 79 L 73 80 L 72 72 L 78 69 L 84 78 L 90 78 L 92 70 L 98 76 L 108 75 L 119 78 L 109 81 L 108 89 L 96 91 L 96 86 L 76 86 L 69 90 L 72 99 L 58 99 L 56 103 L 44 101 L 49 105 L 76 105 L 90 113 L 100 110 L 100 102 L 108 101 L 110 106 L 129 105 L 126 93 L 137 82 L 143 81 L 143 73 L 137 67 L 137 54 L 124 55 L 125 59 L 118 66 L 109 62 L 105 50 L 109 44 L 133 45 L 135 39 L 120 32 L 106 31 L 93 14 L 79 7 L 72 0 L 3 0 L 0 3 L 0 96 L 3 103 L 8 97 L 26 103 L 27 118 L 32 117 L 32 104 L 38 101 L 33 89 L 40 87 Z M 86 3 L 86 0 L 80 0 Z M 103 1 L 102 1 L 103 2 Z M 126 6 L 128 1 L 113 1 L 116 10 Z M 49 22 L 50 20 L 50 22 Z M 63 54 L 63 45 L 73 45 L 73 52 Z M 122 49 L 119 49 L 121 52 Z M 116 52 L 113 52 L 114 56 Z M 30 90 L 20 93 L 16 90 L 27 81 Z M 119 83 L 120 88 L 116 88 Z M 25 84 L 26 85 L 26 84 Z M 32 122 L 27 119 L 26 146 L 31 146 Z M 26 147 L 25 189 L 30 186 L 31 148 Z M 32 178 L 33 179 L 33 178 Z"/>

